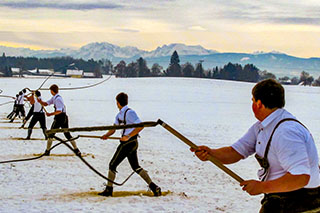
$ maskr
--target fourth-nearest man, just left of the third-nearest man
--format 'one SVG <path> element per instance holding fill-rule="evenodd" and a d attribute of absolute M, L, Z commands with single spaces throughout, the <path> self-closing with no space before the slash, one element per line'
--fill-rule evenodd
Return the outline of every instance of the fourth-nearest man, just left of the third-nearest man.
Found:
<path fill-rule="evenodd" d="M 40 127 L 43 131 L 45 138 L 47 139 L 47 136 L 46 136 L 46 130 L 47 130 L 46 116 L 44 114 L 43 106 L 37 100 L 37 99 L 42 100 L 40 91 L 37 90 L 35 92 L 35 94 L 32 93 L 32 96 L 28 97 L 27 99 L 30 101 L 30 104 L 32 104 L 33 111 L 31 113 L 32 113 L 33 117 L 31 119 L 29 127 L 28 127 L 28 136 L 26 137 L 26 140 L 30 139 L 31 134 L 32 134 L 32 129 L 38 121 L 40 122 Z"/>

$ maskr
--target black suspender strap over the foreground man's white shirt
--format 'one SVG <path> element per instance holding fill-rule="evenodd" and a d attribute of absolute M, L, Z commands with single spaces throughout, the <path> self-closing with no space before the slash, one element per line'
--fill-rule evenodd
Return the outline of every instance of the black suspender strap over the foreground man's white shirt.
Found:
<path fill-rule="evenodd" d="M 274 127 L 271 135 L 270 135 L 270 138 L 268 140 L 268 143 L 267 143 L 267 146 L 266 146 L 266 149 L 264 151 L 264 156 L 263 157 L 260 157 L 258 154 L 256 154 L 254 157 L 257 159 L 258 163 L 260 164 L 260 166 L 262 168 L 264 168 L 264 172 L 262 174 L 262 176 L 264 176 L 262 178 L 262 181 L 264 181 L 267 177 L 267 172 L 269 170 L 269 167 L 270 167 L 270 164 L 268 162 L 268 153 L 269 153 L 269 149 L 270 149 L 270 145 L 271 145 L 271 141 L 272 141 L 272 137 L 273 137 L 273 134 L 274 132 L 276 131 L 276 129 L 279 127 L 280 124 L 282 124 L 283 122 L 285 121 L 295 121 L 295 122 L 298 122 L 299 124 L 301 124 L 304 128 L 307 129 L 307 127 L 305 127 L 305 125 L 303 125 L 300 121 L 294 119 L 294 118 L 285 118 L 285 119 L 282 119 L 281 121 L 279 121 L 277 123 L 277 125 Z"/>

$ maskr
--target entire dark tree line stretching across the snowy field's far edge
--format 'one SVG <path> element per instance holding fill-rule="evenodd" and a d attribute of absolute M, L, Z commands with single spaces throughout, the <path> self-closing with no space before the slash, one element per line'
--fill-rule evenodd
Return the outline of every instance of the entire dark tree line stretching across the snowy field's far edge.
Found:
<path fill-rule="evenodd" d="M 261 71 L 253 64 L 228 63 L 223 67 L 213 67 L 212 69 L 204 69 L 203 61 L 199 61 L 195 66 L 187 62 L 180 65 L 180 59 L 177 51 L 174 51 L 170 58 L 167 69 L 155 63 L 151 69 L 147 66 L 147 61 L 140 57 L 136 61 L 126 63 L 120 61 L 116 66 L 108 59 L 95 61 L 94 59 L 83 60 L 74 59 L 72 57 L 55 57 L 55 58 L 36 58 L 36 57 L 7 57 L 3 53 L 0 57 L 0 72 L 3 76 L 12 76 L 12 67 L 18 67 L 22 71 L 32 69 L 52 69 L 55 72 L 66 73 L 73 67 L 81 69 L 84 72 L 93 72 L 96 77 L 102 74 L 114 74 L 116 77 L 192 77 L 192 78 L 212 78 L 234 81 L 258 82 L 263 79 L 273 78 L 276 76 L 266 70 Z M 314 79 L 309 73 L 302 71 L 300 77 L 289 78 L 287 76 L 277 79 L 283 84 L 302 84 L 320 86 L 320 77 Z"/>

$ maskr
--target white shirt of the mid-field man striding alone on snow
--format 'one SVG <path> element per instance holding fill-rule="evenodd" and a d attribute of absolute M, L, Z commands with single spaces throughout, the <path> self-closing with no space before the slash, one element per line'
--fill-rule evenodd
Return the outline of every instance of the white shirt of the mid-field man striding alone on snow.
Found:
<path fill-rule="evenodd" d="M 119 120 L 124 121 L 124 113 L 126 112 L 126 110 L 128 109 L 128 106 L 124 106 L 120 112 L 117 114 L 116 119 L 114 121 L 115 125 L 120 125 Z M 137 123 L 141 123 L 140 118 L 138 117 L 137 113 L 132 110 L 129 109 L 126 113 L 126 125 L 128 124 L 137 124 Z M 130 128 L 130 129 L 125 129 L 123 135 L 129 135 L 135 128 Z"/>

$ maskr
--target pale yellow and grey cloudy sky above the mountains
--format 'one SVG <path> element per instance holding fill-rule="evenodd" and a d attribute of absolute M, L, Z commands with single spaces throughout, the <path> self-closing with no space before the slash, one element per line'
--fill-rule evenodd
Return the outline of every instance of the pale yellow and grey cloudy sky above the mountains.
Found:
<path fill-rule="evenodd" d="M 0 45 L 76 49 L 90 42 L 320 57 L 320 1 L 0 0 Z"/>

